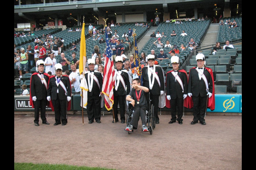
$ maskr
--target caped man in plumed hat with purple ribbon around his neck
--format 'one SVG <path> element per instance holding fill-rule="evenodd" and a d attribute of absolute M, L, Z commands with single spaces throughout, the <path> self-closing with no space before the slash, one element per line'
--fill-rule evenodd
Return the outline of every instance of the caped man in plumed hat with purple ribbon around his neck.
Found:
<path fill-rule="evenodd" d="M 55 113 L 54 126 L 67 124 L 67 110 L 70 110 L 71 101 L 71 83 L 69 77 L 62 75 L 62 65 L 55 64 L 56 76 L 51 76 L 47 90 L 47 100 Z M 68 103 L 67 103 L 68 101 Z"/>

